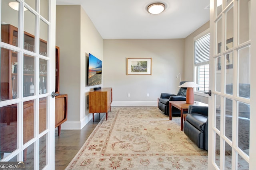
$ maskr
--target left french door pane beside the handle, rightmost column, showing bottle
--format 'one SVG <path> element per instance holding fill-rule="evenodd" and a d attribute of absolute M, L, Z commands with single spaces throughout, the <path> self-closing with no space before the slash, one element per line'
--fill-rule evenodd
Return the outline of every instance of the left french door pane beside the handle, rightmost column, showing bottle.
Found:
<path fill-rule="evenodd" d="M 40 63 L 40 75 L 39 75 L 39 94 L 47 93 L 47 68 L 48 68 L 48 61 L 44 59 L 39 60 Z"/>

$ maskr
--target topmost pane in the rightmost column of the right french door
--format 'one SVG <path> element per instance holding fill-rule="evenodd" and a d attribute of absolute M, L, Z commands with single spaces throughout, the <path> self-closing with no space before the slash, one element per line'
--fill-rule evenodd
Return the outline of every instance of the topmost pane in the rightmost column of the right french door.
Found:
<path fill-rule="evenodd" d="M 249 40 L 250 35 L 250 14 L 249 14 L 249 6 L 250 0 L 238 0 L 238 20 L 239 20 L 239 34 L 238 34 L 238 44 L 242 44 Z"/>

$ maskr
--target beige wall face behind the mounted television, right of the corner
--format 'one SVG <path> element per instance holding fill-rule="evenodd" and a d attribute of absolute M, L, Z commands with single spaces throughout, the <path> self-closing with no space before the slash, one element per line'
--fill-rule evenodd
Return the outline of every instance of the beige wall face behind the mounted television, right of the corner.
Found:
<path fill-rule="evenodd" d="M 81 128 L 92 119 L 92 114 L 89 114 L 89 110 L 87 109 L 88 102 L 88 92 L 90 88 L 87 86 L 87 62 L 88 57 L 85 54 L 93 54 L 98 59 L 103 59 L 103 39 L 101 35 L 98 33 L 97 29 L 93 25 L 90 18 L 87 16 L 86 12 L 81 8 L 81 35 L 80 35 L 80 121 Z M 104 66 L 102 67 L 104 69 Z M 104 73 L 103 73 L 104 76 Z M 103 86 L 103 80 L 102 85 Z"/>

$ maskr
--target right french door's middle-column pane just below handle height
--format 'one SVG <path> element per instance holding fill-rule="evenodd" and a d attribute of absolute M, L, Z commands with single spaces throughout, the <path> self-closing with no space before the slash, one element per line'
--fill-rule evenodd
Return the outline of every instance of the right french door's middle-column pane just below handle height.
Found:
<path fill-rule="evenodd" d="M 226 103 L 225 108 L 225 136 L 232 141 L 232 100 L 224 98 Z"/>

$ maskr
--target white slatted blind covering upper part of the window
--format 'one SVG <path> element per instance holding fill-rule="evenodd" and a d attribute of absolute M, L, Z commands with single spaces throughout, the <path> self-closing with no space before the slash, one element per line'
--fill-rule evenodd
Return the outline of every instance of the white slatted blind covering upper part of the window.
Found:
<path fill-rule="evenodd" d="M 210 33 L 195 41 L 195 66 L 209 64 Z"/>

